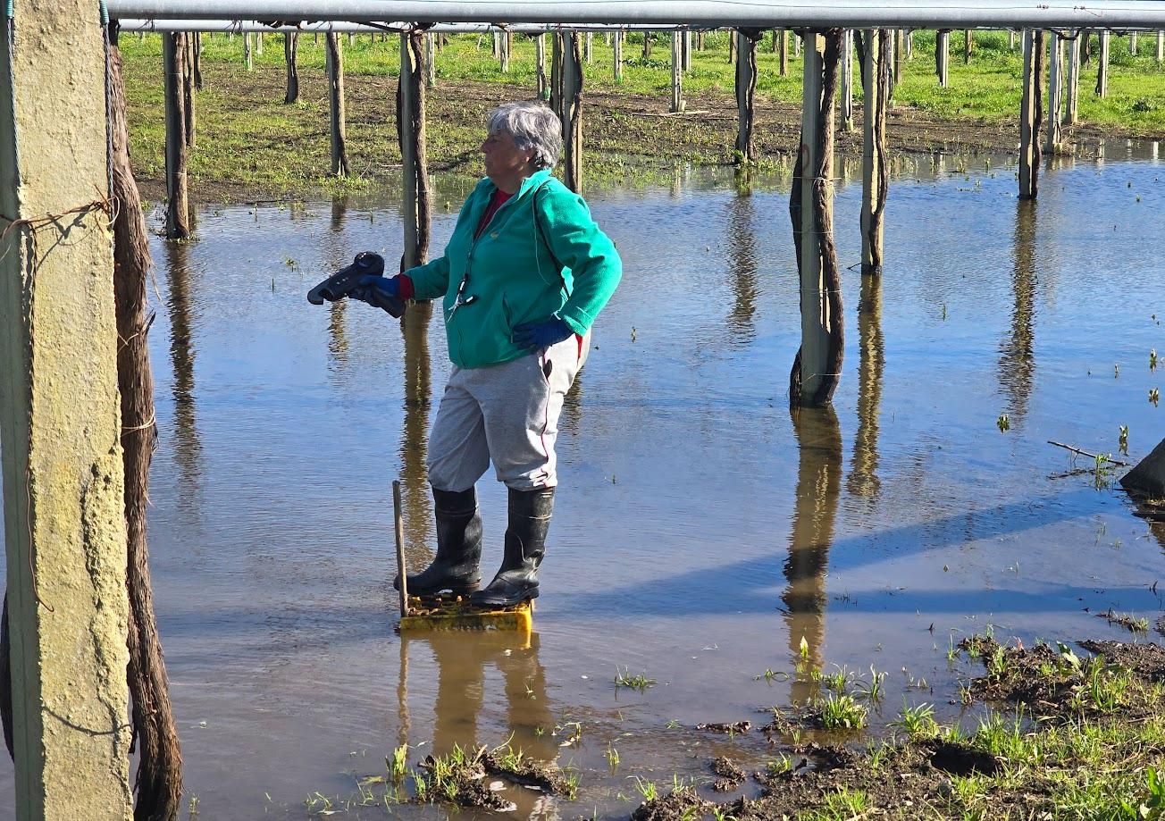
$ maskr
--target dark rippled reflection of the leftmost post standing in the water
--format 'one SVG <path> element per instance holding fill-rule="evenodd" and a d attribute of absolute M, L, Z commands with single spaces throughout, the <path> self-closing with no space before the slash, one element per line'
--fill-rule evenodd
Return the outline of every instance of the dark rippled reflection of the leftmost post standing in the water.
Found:
<path fill-rule="evenodd" d="M 167 242 L 170 361 L 174 366 L 174 459 L 182 493 L 178 504 L 197 510 L 203 446 L 195 412 L 195 344 L 191 335 L 190 242 Z"/>

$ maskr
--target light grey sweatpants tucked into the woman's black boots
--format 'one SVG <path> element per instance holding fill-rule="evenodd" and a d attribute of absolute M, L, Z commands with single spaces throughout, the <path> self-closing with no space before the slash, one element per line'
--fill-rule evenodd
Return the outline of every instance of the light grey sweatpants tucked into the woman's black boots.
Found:
<path fill-rule="evenodd" d="M 453 367 L 429 434 L 429 482 L 472 487 L 494 462 L 515 490 L 552 488 L 563 398 L 586 361 L 591 334 L 488 368 Z"/>

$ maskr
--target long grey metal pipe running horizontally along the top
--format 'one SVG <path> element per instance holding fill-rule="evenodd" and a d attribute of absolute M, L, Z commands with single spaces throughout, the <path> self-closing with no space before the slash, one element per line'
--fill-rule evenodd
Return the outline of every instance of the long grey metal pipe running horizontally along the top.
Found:
<path fill-rule="evenodd" d="M 1163 0 L 107 0 L 113 17 L 756 28 L 1165 28 Z"/>

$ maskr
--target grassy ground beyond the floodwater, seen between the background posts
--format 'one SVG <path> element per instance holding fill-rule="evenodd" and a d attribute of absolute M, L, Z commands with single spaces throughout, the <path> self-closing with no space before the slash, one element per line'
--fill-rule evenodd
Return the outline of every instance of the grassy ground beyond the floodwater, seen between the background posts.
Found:
<path fill-rule="evenodd" d="M 253 198 L 260 192 L 304 192 L 318 187 L 344 191 L 372 181 L 395 184 L 400 162 L 393 94 L 400 61 L 398 40 L 389 35 L 358 35 L 354 45 L 345 37 L 345 69 L 348 77 L 348 151 L 354 177 L 330 177 L 327 94 L 324 82 L 324 38 L 301 35 L 298 65 L 301 99 L 283 104 L 282 35 L 267 35 L 262 55 L 254 55 L 254 70 L 243 69 L 241 35 L 203 35 L 203 90 L 197 95 L 198 144 L 190 155 L 190 176 L 196 197 L 203 199 Z M 962 35 L 951 37 L 951 83 L 940 89 L 934 77 L 934 34 L 918 31 L 913 58 L 905 63 L 894 93 L 898 107 L 916 108 L 948 120 L 1014 122 L 1019 108 L 1019 54 L 1008 45 L 1008 35 L 980 31 L 969 65 L 962 62 Z M 705 36 L 704 51 L 693 51 L 692 70 L 684 76 L 687 108 L 705 104 L 732 109 L 733 66 L 728 62 L 727 33 Z M 623 80 L 616 83 L 613 49 L 602 35 L 594 36 L 593 62 L 584 68 L 585 90 L 594 99 L 613 93 L 622 99 L 651 98 L 666 107 L 670 97 L 670 42 L 657 36 L 650 58 L 642 54 L 642 35 L 629 35 L 624 47 Z M 1127 37 L 1113 37 L 1109 94 L 1096 97 L 1095 59 L 1081 71 L 1079 109 L 1081 121 L 1131 134 L 1165 132 L 1165 69 L 1156 65 L 1151 38 L 1143 38 L 1141 56 L 1128 51 Z M 130 148 L 139 177 L 151 181 L 156 191 L 163 170 L 163 92 L 161 37 L 121 36 L 129 100 Z M 549 48 L 548 48 L 549 51 Z M 791 51 L 791 50 L 790 50 Z M 510 71 L 502 73 L 492 55 L 490 37 L 453 35 L 437 55 L 437 89 L 430 95 L 429 157 L 435 169 L 480 174 L 478 144 L 482 116 L 515 91 L 532 97 L 536 89 L 535 43 L 515 35 Z M 790 54 L 789 73 L 779 76 L 771 36 L 757 48 L 757 105 L 779 101 L 799 105 L 802 61 Z M 861 89 L 856 82 L 855 98 Z M 459 92 L 443 95 L 443 87 L 476 83 L 497 86 L 496 93 Z M 480 87 L 480 86 L 479 86 Z M 730 163 L 735 125 L 732 118 L 708 121 L 699 115 L 652 119 L 636 115 L 641 105 L 605 109 L 603 118 L 587 121 L 587 175 L 592 182 L 648 175 L 650 167 L 694 163 Z M 665 136 L 661 136 L 665 135 Z M 793 137 L 795 139 L 795 137 Z M 784 136 L 779 143 L 788 142 Z M 770 148 L 771 150 L 771 148 Z M 648 154 L 654 163 L 630 161 Z M 770 155 L 763 162 L 772 162 Z M 658 176 L 658 175 L 656 175 Z M 652 178 L 654 182 L 657 182 Z M 216 187 L 217 186 L 217 187 Z M 209 193 L 207 193 L 209 192 Z M 442 200 L 437 203 L 438 210 Z"/>

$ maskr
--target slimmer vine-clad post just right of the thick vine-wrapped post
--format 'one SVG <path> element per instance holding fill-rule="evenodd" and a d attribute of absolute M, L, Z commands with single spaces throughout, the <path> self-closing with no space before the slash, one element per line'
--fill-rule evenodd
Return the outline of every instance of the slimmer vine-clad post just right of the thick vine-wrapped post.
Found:
<path fill-rule="evenodd" d="M 890 109 L 890 31 L 867 29 L 862 123 L 862 274 L 882 274 L 882 238 L 890 165 L 885 119 Z"/>

